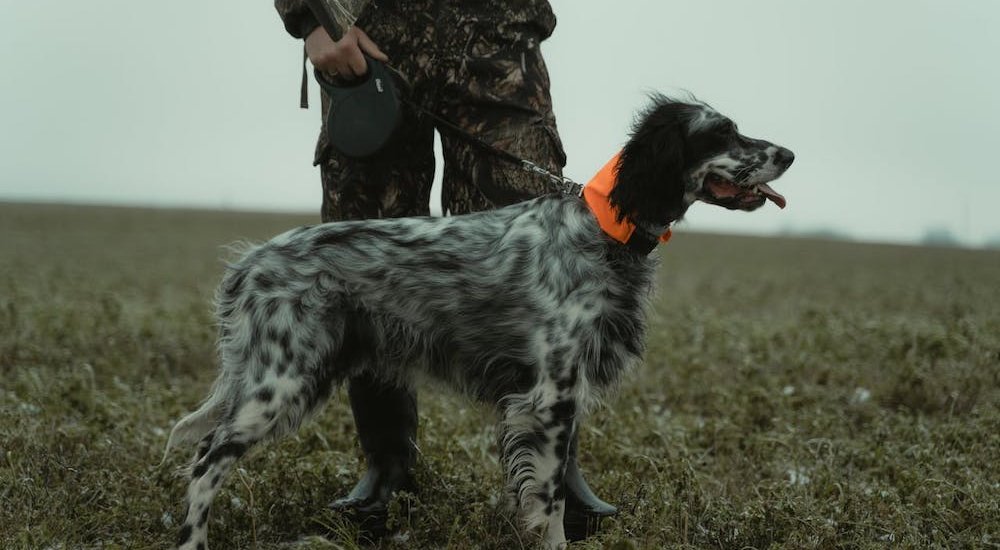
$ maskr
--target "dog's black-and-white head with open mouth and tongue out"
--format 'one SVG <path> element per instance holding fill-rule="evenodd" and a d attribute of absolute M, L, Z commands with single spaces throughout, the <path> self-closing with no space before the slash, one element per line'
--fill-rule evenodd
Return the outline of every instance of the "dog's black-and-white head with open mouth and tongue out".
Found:
<path fill-rule="evenodd" d="M 791 166 L 784 147 L 746 137 L 703 103 L 655 96 L 622 150 L 610 200 L 622 217 L 668 225 L 695 201 L 756 210 L 785 198 L 769 183 Z"/>

